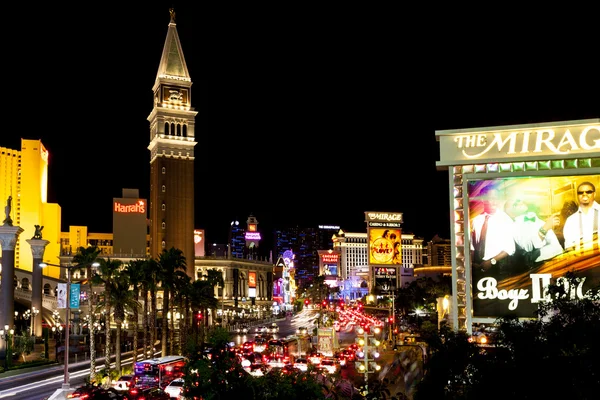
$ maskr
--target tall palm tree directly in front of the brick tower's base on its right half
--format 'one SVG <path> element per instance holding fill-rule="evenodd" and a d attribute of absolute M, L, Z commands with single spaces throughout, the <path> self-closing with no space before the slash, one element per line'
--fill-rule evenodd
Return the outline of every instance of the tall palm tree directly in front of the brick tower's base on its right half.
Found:
<path fill-rule="evenodd" d="M 169 306 L 171 292 L 175 288 L 175 281 L 186 276 L 186 260 L 183 251 L 174 247 L 171 247 L 169 250 L 163 250 L 158 257 L 158 265 L 161 288 L 163 289 L 161 348 L 164 356 L 170 354 L 167 353 L 167 342 L 169 337 L 167 316 L 169 311 L 171 311 Z"/>

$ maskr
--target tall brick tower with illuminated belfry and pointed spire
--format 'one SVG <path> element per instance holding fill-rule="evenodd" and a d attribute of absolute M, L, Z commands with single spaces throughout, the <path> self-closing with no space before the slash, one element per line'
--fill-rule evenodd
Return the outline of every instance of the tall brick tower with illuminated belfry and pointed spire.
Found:
<path fill-rule="evenodd" d="M 194 277 L 194 146 L 192 80 L 177 34 L 175 12 L 167 30 L 150 122 L 150 255 L 163 249 L 183 252 Z"/>

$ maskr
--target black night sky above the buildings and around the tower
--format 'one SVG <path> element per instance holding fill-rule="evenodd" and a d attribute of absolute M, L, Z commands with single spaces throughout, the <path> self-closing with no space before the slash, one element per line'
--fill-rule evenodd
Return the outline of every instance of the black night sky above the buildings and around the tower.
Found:
<path fill-rule="evenodd" d="M 146 118 L 170 6 L 198 111 L 195 222 L 209 243 L 251 213 L 263 236 L 286 225 L 364 232 L 365 211 L 394 211 L 404 231 L 447 238 L 436 130 L 600 116 L 585 18 L 517 30 L 381 9 L 187 3 L 44 4 L 7 24 L 0 146 L 42 140 L 63 229 L 111 232 L 122 188 L 149 196 Z"/>

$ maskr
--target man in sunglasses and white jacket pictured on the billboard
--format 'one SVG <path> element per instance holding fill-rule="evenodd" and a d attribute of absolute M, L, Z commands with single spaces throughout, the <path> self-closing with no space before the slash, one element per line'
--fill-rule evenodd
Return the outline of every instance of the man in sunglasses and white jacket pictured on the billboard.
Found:
<path fill-rule="evenodd" d="M 567 218 L 563 228 L 566 250 L 598 247 L 600 204 L 595 200 L 596 187 L 591 182 L 577 186 L 579 209 Z"/>

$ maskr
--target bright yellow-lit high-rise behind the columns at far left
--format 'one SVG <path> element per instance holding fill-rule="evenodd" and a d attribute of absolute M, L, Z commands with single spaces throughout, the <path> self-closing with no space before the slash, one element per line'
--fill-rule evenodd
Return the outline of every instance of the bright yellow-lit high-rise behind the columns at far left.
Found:
<path fill-rule="evenodd" d="M 43 226 L 42 237 L 50 243 L 44 260 L 58 260 L 60 254 L 61 209 L 48 203 L 48 150 L 41 140 L 21 139 L 21 150 L 0 148 L 0 199 L 12 196 L 11 219 L 23 229 L 15 248 L 15 267 L 33 270 L 33 255 L 27 239 L 35 234 L 35 225 Z M 60 268 L 44 270 L 58 278 Z"/>

